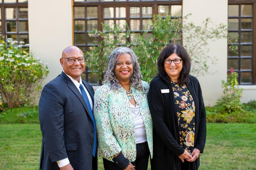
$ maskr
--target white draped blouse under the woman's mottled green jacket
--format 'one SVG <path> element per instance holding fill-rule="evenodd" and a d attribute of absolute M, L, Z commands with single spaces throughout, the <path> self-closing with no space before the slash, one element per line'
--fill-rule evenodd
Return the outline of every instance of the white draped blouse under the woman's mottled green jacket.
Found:
<path fill-rule="evenodd" d="M 139 106 L 137 105 L 137 103 L 136 103 L 136 106 L 133 106 L 131 103 L 130 105 L 131 105 L 134 124 L 135 124 L 136 144 L 146 142 L 147 141 L 146 128 L 144 125 L 144 121 L 142 119 L 142 115 L 140 114 Z"/>

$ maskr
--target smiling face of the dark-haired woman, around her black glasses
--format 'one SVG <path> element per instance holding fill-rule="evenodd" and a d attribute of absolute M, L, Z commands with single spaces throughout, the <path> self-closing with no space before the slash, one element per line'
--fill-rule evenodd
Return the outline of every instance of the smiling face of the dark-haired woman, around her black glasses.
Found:
<path fill-rule="evenodd" d="M 176 53 L 171 54 L 166 59 L 174 60 L 174 59 L 182 59 L 179 57 Z M 180 64 L 175 64 L 173 61 L 171 64 L 165 64 L 164 63 L 164 70 L 168 74 L 168 76 L 171 78 L 171 80 L 175 81 L 179 78 L 180 72 L 182 70 L 183 61 L 181 61 Z"/>

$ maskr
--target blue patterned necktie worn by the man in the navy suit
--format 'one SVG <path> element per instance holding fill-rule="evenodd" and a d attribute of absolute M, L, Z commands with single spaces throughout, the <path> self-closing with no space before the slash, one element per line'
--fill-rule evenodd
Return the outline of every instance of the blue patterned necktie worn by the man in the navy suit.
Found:
<path fill-rule="evenodd" d="M 93 113 L 92 113 L 92 108 L 91 108 L 91 105 L 90 105 L 90 102 L 89 102 L 89 99 L 88 99 L 88 96 L 85 92 L 85 89 L 84 87 L 80 84 L 79 86 L 80 90 L 81 90 L 81 93 L 82 93 L 82 96 L 85 100 L 85 103 L 87 105 L 87 108 L 89 110 L 89 113 L 91 115 L 91 118 L 92 118 L 92 121 L 93 121 L 93 126 L 94 126 L 94 144 L 93 144 L 93 156 L 95 157 L 95 153 L 96 153 L 96 147 L 97 147 L 97 131 L 96 131 L 96 123 L 95 123 L 95 119 L 94 119 L 94 116 L 93 116 Z"/>

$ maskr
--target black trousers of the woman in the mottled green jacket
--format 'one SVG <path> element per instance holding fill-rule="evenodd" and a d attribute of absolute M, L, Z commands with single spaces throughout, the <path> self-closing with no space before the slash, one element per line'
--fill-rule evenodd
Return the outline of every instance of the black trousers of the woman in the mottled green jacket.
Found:
<path fill-rule="evenodd" d="M 147 170 L 149 162 L 149 146 L 148 142 L 136 144 L 136 160 L 131 162 L 136 170 Z M 105 170 L 123 170 L 120 169 L 114 162 L 103 158 L 103 165 Z"/>

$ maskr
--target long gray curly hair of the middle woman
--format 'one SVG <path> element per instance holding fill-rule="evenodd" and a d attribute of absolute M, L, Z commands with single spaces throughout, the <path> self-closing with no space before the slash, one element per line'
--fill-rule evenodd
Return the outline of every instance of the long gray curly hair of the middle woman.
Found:
<path fill-rule="evenodd" d="M 142 74 L 140 72 L 140 67 L 138 63 L 137 56 L 135 53 L 127 48 L 127 47 L 117 47 L 115 48 L 108 59 L 107 63 L 107 70 L 106 70 L 106 75 L 105 75 L 105 80 L 102 82 L 103 84 L 110 82 L 111 87 L 113 89 L 119 89 L 121 87 L 119 80 L 117 79 L 115 75 L 115 69 L 116 69 L 116 64 L 117 64 L 117 59 L 121 54 L 130 54 L 132 58 L 132 64 L 133 64 L 133 73 L 131 76 L 131 85 L 137 89 L 137 90 L 146 90 L 147 87 L 142 85 Z"/>

